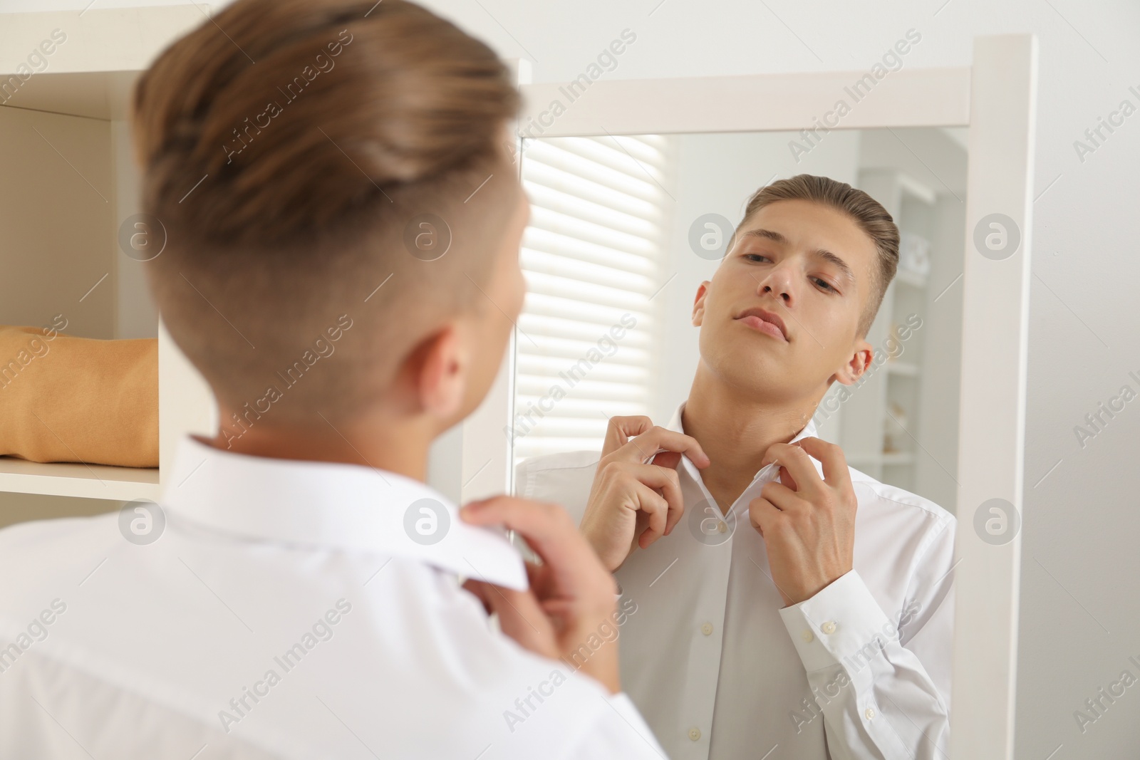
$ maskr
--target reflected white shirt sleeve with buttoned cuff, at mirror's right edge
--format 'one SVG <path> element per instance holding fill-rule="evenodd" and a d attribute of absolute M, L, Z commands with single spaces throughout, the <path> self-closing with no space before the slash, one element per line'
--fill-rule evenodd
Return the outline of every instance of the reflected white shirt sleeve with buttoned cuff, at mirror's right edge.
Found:
<path fill-rule="evenodd" d="M 920 554 L 894 619 L 854 570 L 780 611 L 833 760 L 948 757 L 953 525 L 947 520 Z"/>

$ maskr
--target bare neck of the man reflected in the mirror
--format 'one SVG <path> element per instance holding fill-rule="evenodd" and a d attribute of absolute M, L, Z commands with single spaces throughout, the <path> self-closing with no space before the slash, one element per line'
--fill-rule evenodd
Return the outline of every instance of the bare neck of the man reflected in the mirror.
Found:
<path fill-rule="evenodd" d="M 791 441 L 811 422 L 817 399 L 772 402 L 744 394 L 700 365 L 682 414 L 682 426 L 709 457 L 705 487 L 727 513 L 760 469 L 773 443 Z"/>

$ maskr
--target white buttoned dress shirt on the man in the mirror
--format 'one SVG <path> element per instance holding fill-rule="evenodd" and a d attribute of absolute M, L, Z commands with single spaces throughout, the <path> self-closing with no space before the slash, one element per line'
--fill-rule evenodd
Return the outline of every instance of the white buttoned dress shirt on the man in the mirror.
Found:
<path fill-rule="evenodd" d="M 682 431 L 677 409 L 669 430 Z M 809 423 L 792 440 L 815 435 Z M 598 452 L 520 463 L 516 491 L 580 522 Z M 682 457 L 685 513 L 614 573 L 637 606 L 621 628 L 621 683 L 673 760 L 947 757 L 954 518 L 850 469 L 854 570 L 800 604 L 772 582 L 748 505 L 722 515 Z M 813 459 L 822 474 L 822 466 Z"/>

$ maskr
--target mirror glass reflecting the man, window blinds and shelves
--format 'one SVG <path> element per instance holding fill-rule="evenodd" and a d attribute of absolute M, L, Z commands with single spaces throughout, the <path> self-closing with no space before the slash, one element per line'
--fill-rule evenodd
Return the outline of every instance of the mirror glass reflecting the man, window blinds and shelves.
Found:
<path fill-rule="evenodd" d="M 963 132 L 523 145 L 515 491 L 564 506 L 613 572 L 612 624 L 572 664 L 620 631 L 669 757 L 945 757 Z M 799 174 L 878 204 L 811 179 L 838 207 L 744 218 Z M 627 430 L 600 468 L 613 418 L 642 415 L 673 438 Z"/>

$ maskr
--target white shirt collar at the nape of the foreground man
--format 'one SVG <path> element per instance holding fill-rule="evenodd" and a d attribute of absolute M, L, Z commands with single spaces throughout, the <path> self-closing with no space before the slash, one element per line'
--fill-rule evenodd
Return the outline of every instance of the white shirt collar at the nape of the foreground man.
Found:
<path fill-rule="evenodd" d="M 195 435 L 179 440 L 172 469 L 162 506 L 218 532 L 409 557 L 515 590 L 528 587 L 522 557 L 503 533 L 462 522 L 447 497 L 397 473 L 237 453 Z"/>

